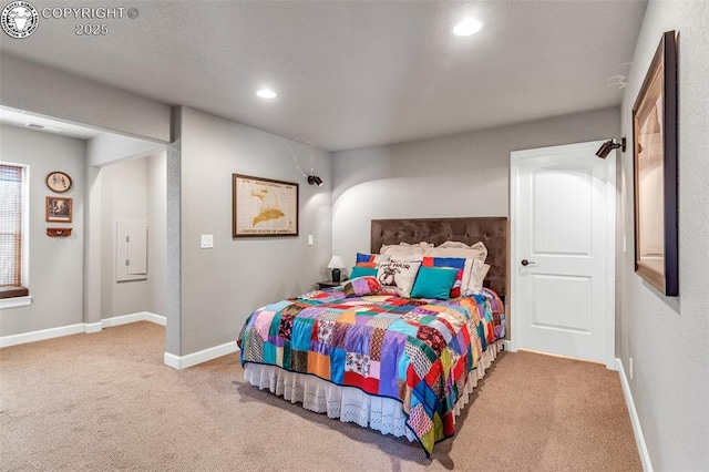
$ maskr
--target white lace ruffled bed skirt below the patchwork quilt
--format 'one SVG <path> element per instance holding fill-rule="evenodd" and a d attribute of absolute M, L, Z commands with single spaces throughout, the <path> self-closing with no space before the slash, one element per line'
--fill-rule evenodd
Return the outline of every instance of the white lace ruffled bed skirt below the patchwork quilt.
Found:
<path fill-rule="evenodd" d="M 477 368 L 469 376 L 465 389 L 455 403 L 456 417 L 470 401 L 471 392 L 484 377 L 502 346 L 502 340 L 495 341 L 483 352 Z M 407 428 L 407 417 L 399 400 L 373 397 L 354 387 L 340 387 L 316 376 L 290 372 L 276 366 L 249 362 L 244 367 L 244 378 L 250 384 L 261 390 L 268 389 L 291 403 L 302 403 L 306 410 L 327 413 L 330 418 L 371 428 L 382 434 L 407 437 L 409 441 L 417 439 Z"/>

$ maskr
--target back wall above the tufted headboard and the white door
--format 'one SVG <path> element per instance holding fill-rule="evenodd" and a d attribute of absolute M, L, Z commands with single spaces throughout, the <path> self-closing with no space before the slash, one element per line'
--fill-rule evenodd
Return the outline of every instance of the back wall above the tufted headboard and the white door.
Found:
<path fill-rule="evenodd" d="M 372 218 L 507 216 L 510 152 L 618 135 L 606 109 L 333 156 L 332 250 L 353 265 Z"/>

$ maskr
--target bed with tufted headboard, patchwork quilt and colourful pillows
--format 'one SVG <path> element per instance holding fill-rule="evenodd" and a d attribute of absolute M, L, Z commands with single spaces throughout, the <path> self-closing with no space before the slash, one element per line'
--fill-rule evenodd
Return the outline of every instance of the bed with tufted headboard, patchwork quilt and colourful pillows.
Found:
<path fill-rule="evenodd" d="M 489 266 L 473 293 L 463 275 L 477 260 L 404 254 L 471 247 L 485 248 Z M 249 316 L 237 339 L 245 378 L 308 410 L 418 441 L 430 456 L 454 435 L 455 417 L 502 349 L 506 256 L 505 217 L 372 220 L 370 253 L 352 269 L 369 275 Z M 402 284 L 401 273 L 414 271 Z"/>

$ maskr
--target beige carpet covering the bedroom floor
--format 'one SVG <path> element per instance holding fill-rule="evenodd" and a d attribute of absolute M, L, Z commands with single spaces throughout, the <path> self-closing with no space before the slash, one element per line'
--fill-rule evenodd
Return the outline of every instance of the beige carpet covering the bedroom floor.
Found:
<path fill-rule="evenodd" d="M 3 471 L 639 471 L 616 372 L 502 353 L 431 460 L 246 384 L 237 355 L 163 365 L 137 322 L 0 349 Z"/>

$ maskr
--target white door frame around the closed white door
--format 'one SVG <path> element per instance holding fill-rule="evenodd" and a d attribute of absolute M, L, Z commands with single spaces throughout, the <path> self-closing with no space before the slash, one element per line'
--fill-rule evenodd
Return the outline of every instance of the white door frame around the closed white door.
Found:
<path fill-rule="evenodd" d="M 513 314 L 511 317 L 511 339 L 510 350 L 515 352 L 518 348 L 517 331 L 518 317 L 514 316 L 514 304 L 516 300 L 522 300 L 522 294 L 520 284 L 517 280 L 517 260 L 522 255 L 517 254 L 517 197 L 520 195 L 520 162 L 524 158 L 544 156 L 549 154 L 562 154 L 578 148 L 593 148 L 597 150 L 600 145 L 608 140 L 590 141 L 584 143 L 566 144 L 559 146 L 537 147 L 531 150 L 512 151 L 510 153 L 510 286 L 512 299 L 508 302 L 510 311 Z M 616 154 L 610 153 L 606 157 L 606 332 L 605 332 L 605 361 L 606 368 L 609 370 L 616 370 Z"/>

